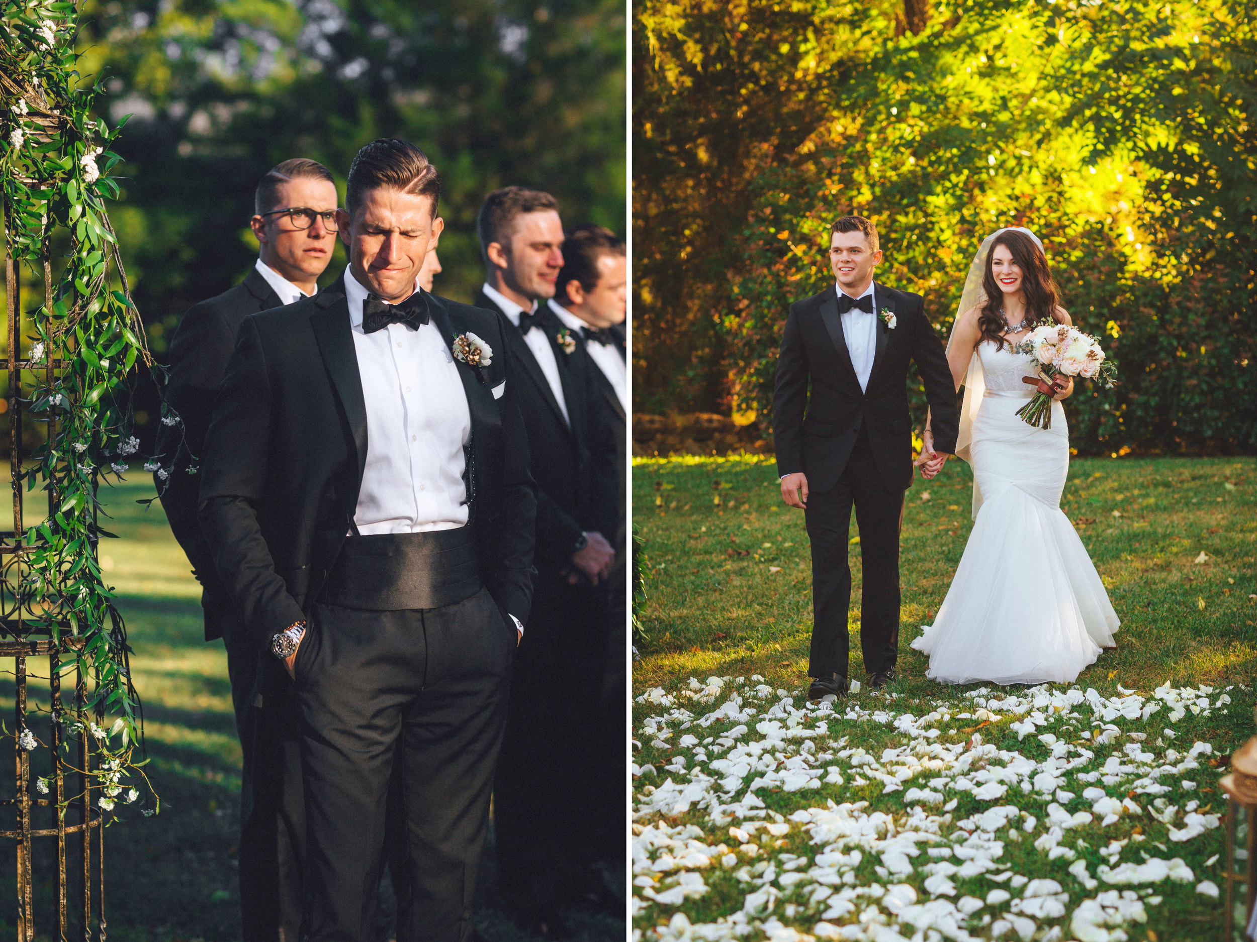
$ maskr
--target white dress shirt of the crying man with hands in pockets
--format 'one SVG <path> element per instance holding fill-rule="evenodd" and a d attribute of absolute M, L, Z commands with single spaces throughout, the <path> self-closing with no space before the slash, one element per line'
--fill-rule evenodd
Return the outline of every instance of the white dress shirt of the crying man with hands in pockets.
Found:
<path fill-rule="evenodd" d="M 416 283 L 415 290 L 419 290 Z M 353 348 L 367 407 L 360 534 L 454 530 L 468 522 L 463 446 L 471 412 L 454 354 L 435 324 L 362 332 L 367 289 L 346 269 Z"/>

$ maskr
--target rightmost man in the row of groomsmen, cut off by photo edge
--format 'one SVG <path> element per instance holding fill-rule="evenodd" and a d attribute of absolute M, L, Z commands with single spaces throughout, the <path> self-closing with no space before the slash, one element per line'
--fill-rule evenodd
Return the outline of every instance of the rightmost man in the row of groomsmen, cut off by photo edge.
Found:
<path fill-rule="evenodd" d="M 615 440 L 616 519 L 612 545 L 616 564 L 608 578 L 607 659 L 602 698 L 588 742 L 590 761 L 582 762 L 588 785 L 585 790 L 585 855 L 608 877 L 623 867 L 625 835 L 628 833 L 623 803 L 626 755 L 625 695 L 627 691 L 627 414 L 628 371 L 623 333 L 616 330 L 628 308 L 627 257 L 623 240 L 597 225 L 576 226 L 563 241 L 563 269 L 558 273 L 551 310 L 579 338 L 593 378 L 591 408 L 601 408 Z M 595 888 L 601 889 L 601 888 Z M 593 893 L 595 896 L 596 892 Z M 606 902 L 618 902 L 622 897 Z"/>

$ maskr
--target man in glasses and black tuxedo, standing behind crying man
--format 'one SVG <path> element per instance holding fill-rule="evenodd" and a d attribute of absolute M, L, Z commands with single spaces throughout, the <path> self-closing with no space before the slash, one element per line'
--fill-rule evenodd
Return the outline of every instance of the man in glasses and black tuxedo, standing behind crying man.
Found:
<path fill-rule="evenodd" d="M 205 639 L 222 638 L 244 751 L 240 789 L 240 908 L 246 942 L 295 942 L 300 921 L 304 806 L 292 703 L 255 697 L 258 652 L 214 569 L 196 519 L 197 468 L 219 383 L 240 322 L 318 290 L 336 242 L 336 182 L 314 161 L 294 158 L 258 183 L 250 222 L 260 245 L 244 281 L 195 304 L 170 345 L 167 416 L 157 436 L 153 482 L 175 539 L 201 583 Z"/>

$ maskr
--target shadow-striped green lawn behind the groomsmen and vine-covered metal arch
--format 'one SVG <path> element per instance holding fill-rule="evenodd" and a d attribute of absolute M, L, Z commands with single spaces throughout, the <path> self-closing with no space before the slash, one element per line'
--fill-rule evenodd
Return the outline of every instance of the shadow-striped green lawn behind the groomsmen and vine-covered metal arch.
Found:
<path fill-rule="evenodd" d="M 0 485 L 8 489 L 6 476 Z M 229 942 L 241 937 L 236 879 L 241 751 L 226 653 L 221 641 L 204 639 L 200 587 L 161 504 L 137 502 L 153 494 L 147 475 L 101 490 L 112 517 L 102 525 L 118 539 L 102 540 L 99 559 L 126 618 L 151 760 L 145 771 L 161 796 L 158 815 L 143 818 L 128 808 L 123 820 L 106 833 L 108 934 L 123 942 Z M 28 497 L 26 504 L 33 511 L 38 496 Z M 38 517 L 31 511 L 28 525 Z M 41 667 L 35 661 L 29 664 L 33 672 L 47 674 L 47 661 Z M 11 676 L 13 659 L 0 661 L 5 717 L 13 716 Z M 29 690 L 33 701 L 47 705 L 45 678 L 31 679 Z M 11 721 L 6 726 L 11 727 Z M 11 746 L 10 739 L 8 749 L 0 747 L 5 769 L 13 769 Z M 41 751 L 33 754 L 36 764 Z M 0 793 L 10 796 L 11 784 L 0 784 Z M 43 939 L 55 937 L 54 863 L 48 843 L 38 848 L 41 857 L 36 858 L 35 879 L 35 928 Z M 15 938 L 14 880 L 13 853 L 0 854 L 0 939 Z M 481 893 L 489 892 L 489 882 L 483 879 L 481 884 Z M 386 882 L 380 939 L 392 938 L 387 934 L 391 906 Z M 586 942 L 622 934 L 622 923 L 605 917 L 577 914 L 572 922 Z M 490 942 L 527 938 L 488 906 L 478 912 L 476 926 Z"/>

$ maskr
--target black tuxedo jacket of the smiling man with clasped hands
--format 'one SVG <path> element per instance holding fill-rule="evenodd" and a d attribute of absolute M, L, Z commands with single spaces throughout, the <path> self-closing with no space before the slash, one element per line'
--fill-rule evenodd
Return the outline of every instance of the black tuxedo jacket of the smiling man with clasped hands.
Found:
<path fill-rule="evenodd" d="M 581 348 L 579 338 L 574 338 L 571 354 L 558 343 L 563 324 L 553 311 L 542 308 L 542 329 L 558 362 L 571 426 L 563 421 L 546 374 L 519 329 L 484 291 L 476 294 L 475 304 L 494 313 L 507 338 L 505 348 L 517 377 L 519 411 L 528 430 L 530 470 L 537 482 L 537 566 L 541 571 L 537 588 L 544 592 L 571 561 L 582 531 L 597 530 L 608 540 L 615 533 L 611 432 L 602 409 L 590 408 L 593 363 Z"/>

